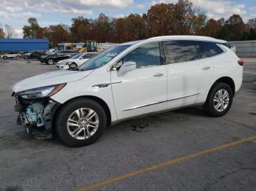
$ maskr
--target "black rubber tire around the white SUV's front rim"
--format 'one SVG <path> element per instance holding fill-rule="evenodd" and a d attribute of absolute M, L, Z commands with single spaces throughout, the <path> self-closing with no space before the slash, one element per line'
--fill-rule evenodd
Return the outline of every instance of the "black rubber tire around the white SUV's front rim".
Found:
<path fill-rule="evenodd" d="M 80 108 L 93 109 L 99 117 L 99 126 L 95 133 L 87 139 L 75 139 L 73 138 L 67 129 L 67 120 L 69 115 L 75 110 Z M 107 117 L 105 110 L 96 101 L 89 98 L 78 98 L 74 101 L 70 101 L 68 104 L 64 105 L 63 108 L 58 112 L 55 120 L 56 133 L 59 139 L 70 147 L 83 147 L 89 144 L 93 144 L 105 130 L 107 126 Z"/>

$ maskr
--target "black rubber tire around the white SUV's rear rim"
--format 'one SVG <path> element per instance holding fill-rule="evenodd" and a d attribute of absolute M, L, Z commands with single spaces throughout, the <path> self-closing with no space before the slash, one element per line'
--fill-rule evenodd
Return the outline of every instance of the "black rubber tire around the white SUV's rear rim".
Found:
<path fill-rule="evenodd" d="M 214 96 L 217 94 L 219 90 L 226 90 L 229 95 L 229 102 L 227 107 L 223 111 L 217 111 L 214 107 Z M 229 85 L 223 82 L 217 82 L 214 87 L 211 87 L 210 92 L 208 93 L 208 97 L 206 99 L 206 103 L 203 105 L 203 109 L 211 116 L 211 117 L 222 117 L 227 114 L 230 110 L 230 107 L 233 103 L 233 91 Z"/>

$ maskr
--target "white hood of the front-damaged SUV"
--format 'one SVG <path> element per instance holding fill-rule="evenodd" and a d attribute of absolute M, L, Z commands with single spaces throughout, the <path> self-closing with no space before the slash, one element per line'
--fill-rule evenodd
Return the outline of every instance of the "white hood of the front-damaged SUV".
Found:
<path fill-rule="evenodd" d="M 18 93 L 23 90 L 29 90 L 37 87 L 44 87 L 48 85 L 57 85 L 66 82 L 73 82 L 84 77 L 89 76 L 92 70 L 89 71 L 70 71 L 58 70 L 50 71 L 45 74 L 39 74 L 34 77 L 23 79 L 12 85 L 12 91 Z"/>

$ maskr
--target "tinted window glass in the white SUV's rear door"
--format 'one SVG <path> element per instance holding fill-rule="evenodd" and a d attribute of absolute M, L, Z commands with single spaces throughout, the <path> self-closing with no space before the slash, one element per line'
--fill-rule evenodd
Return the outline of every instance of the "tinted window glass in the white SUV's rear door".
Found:
<path fill-rule="evenodd" d="M 195 61 L 199 59 L 199 55 L 193 41 L 178 40 L 163 43 L 167 64 Z"/>

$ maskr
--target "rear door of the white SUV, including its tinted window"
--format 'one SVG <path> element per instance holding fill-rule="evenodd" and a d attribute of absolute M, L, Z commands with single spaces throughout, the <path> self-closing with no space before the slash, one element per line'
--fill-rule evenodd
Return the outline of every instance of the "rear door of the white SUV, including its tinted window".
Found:
<path fill-rule="evenodd" d="M 202 59 L 195 41 L 163 44 L 167 62 L 167 108 L 201 102 L 214 71 L 211 59 Z"/>

